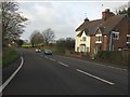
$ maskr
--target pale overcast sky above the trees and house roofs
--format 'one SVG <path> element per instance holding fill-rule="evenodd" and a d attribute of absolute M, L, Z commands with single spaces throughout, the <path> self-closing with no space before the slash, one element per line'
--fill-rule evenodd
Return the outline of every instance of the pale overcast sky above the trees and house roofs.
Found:
<path fill-rule="evenodd" d="M 34 30 L 51 28 L 55 39 L 75 38 L 75 29 L 88 17 L 101 19 L 102 11 L 115 11 L 128 1 L 21 1 L 20 11 L 28 18 L 28 25 L 22 39 L 29 40 Z M 102 6 L 103 4 L 103 6 Z"/>

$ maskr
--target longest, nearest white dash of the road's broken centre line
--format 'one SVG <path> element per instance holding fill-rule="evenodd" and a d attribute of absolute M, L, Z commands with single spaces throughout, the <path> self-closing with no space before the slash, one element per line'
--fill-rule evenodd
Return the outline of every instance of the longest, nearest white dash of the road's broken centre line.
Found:
<path fill-rule="evenodd" d="M 91 77 L 91 78 L 94 78 L 94 79 L 96 79 L 96 80 L 100 80 L 100 81 L 102 81 L 102 82 L 105 82 L 105 83 L 107 83 L 107 84 L 110 84 L 110 85 L 114 85 L 114 84 L 115 84 L 115 83 L 112 83 L 112 82 L 106 81 L 106 80 L 104 80 L 104 79 L 101 79 L 101 78 L 99 78 L 99 77 L 95 77 L 95 75 L 93 75 L 93 74 L 91 74 L 91 73 L 84 72 L 84 71 L 82 71 L 82 70 L 80 70 L 80 69 L 76 69 L 76 70 L 79 71 L 79 72 L 81 72 L 81 73 L 83 73 L 83 74 L 86 74 L 86 75 L 89 75 L 89 77 Z"/>

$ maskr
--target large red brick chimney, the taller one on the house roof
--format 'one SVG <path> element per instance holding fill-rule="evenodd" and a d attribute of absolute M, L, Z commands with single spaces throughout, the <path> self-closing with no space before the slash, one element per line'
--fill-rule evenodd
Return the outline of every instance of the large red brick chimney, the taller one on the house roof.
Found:
<path fill-rule="evenodd" d="M 102 23 L 114 15 L 115 14 L 113 12 L 109 12 L 109 9 L 106 9 L 104 12 L 102 12 Z"/>

